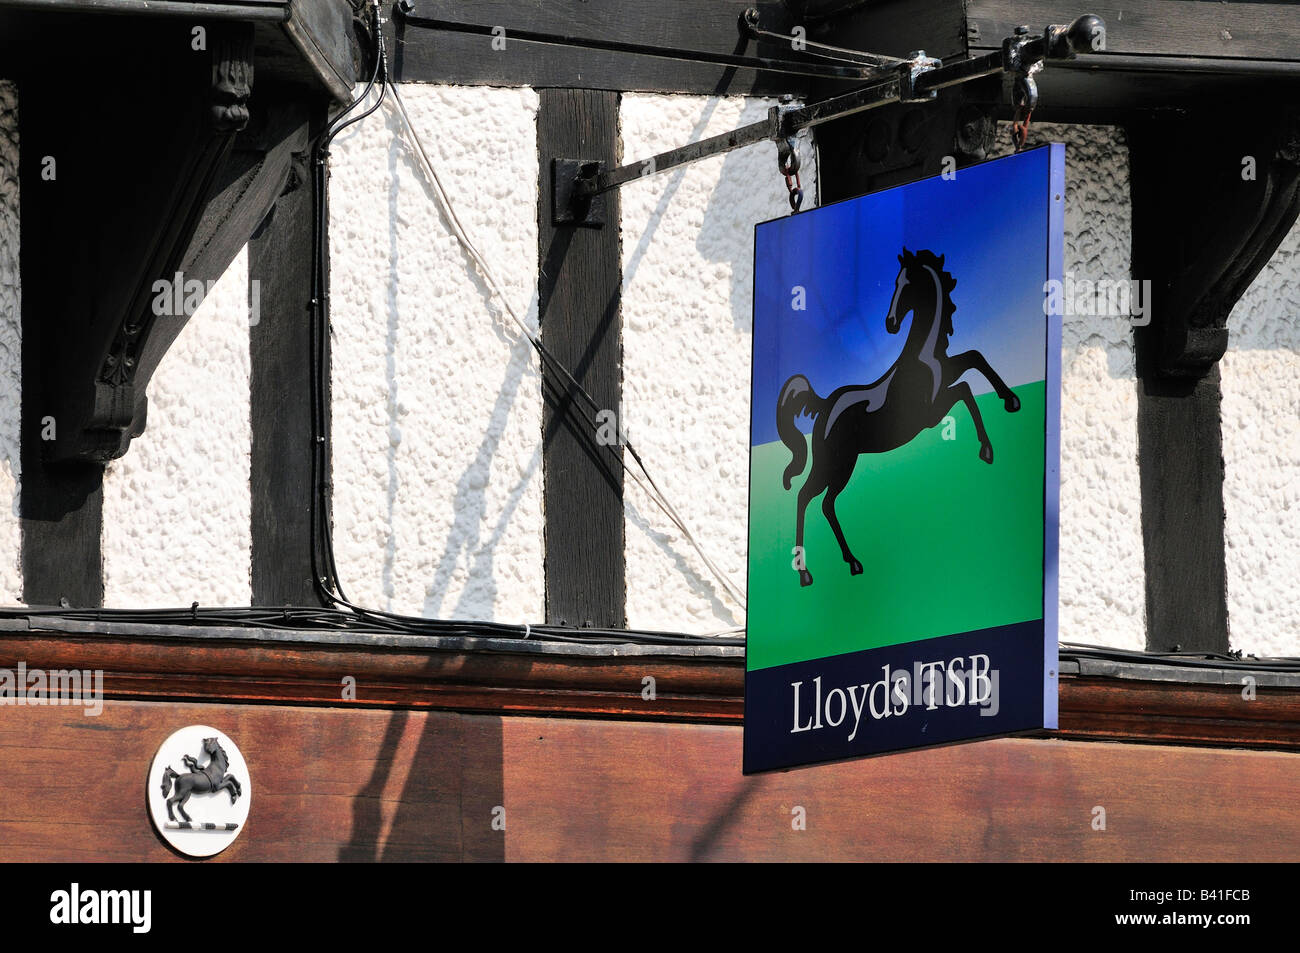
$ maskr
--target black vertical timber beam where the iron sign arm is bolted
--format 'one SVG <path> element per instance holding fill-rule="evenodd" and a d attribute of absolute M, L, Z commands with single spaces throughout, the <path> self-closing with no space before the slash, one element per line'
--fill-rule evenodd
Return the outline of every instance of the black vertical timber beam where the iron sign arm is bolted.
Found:
<path fill-rule="evenodd" d="M 551 216 L 551 159 L 619 155 L 619 94 L 542 90 L 537 114 L 542 343 L 602 410 L 618 415 L 621 397 L 621 247 L 619 196 L 604 196 L 604 225 L 556 226 Z M 546 507 L 546 621 L 623 627 L 623 471 L 619 446 L 597 441 L 593 411 L 572 385 L 543 374 L 543 502 Z"/>

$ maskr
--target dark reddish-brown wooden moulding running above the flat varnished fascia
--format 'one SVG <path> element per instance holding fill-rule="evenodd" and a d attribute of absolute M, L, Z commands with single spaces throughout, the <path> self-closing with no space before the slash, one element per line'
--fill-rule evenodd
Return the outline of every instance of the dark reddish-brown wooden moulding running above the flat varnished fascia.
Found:
<path fill-rule="evenodd" d="M 580 715 L 741 724 L 744 660 L 5 633 L 0 668 L 101 670 L 114 699 Z M 343 697 L 355 680 L 355 699 Z M 1169 676 L 1165 676 L 1169 677 Z M 1054 737 L 1300 751 L 1300 688 L 1071 675 Z"/>

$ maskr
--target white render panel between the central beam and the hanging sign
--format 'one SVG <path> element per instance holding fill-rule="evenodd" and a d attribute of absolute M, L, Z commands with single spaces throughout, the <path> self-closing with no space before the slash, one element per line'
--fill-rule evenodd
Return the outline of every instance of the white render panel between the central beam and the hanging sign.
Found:
<path fill-rule="evenodd" d="M 772 100 L 625 95 L 633 161 L 767 114 Z M 812 150 L 801 140 L 805 208 Z M 770 143 L 623 189 L 623 412 L 628 438 L 705 553 L 745 592 L 754 225 L 789 213 Z M 715 632 L 745 612 L 629 480 L 628 625 Z"/>

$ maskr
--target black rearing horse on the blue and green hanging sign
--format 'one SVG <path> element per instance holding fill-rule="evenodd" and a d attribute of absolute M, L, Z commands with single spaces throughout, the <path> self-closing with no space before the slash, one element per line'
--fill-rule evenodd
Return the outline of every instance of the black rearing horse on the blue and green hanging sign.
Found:
<path fill-rule="evenodd" d="M 911 312 L 911 329 L 898 360 L 875 384 L 848 385 L 820 398 L 803 374 L 794 374 L 781 387 L 776 404 L 776 432 L 790 449 L 793 459 L 785 468 L 783 482 L 803 472 L 807 464 L 807 442 L 794 425 L 800 413 L 811 413 L 812 468 L 800 489 L 794 517 L 794 546 L 800 585 L 812 585 L 803 550 L 803 511 L 823 490 L 822 512 L 831 524 L 840 543 L 844 562 L 854 576 L 862 572 L 844 529 L 835 515 L 835 499 L 844 491 L 853 476 L 859 454 L 883 454 L 907 443 L 922 430 L 937 425 L 952 407 L 961 400 L 970 411 L 979 436 L 979 458 L 993 463 L 993 445 L 984 432 L 979 407 L 968 384 L 958 378 L 967 371 L 979 371 L 1002 398 L 1009 412 L 1020 408 L 1020 400 L 1002 378 L 988 365 L 979 351 L 948 355 L 948 338 L 953 333 L 953 312 L 957 306 L 950 296 L 957 280 L 944 270 L 944 256 L 931 251 L 915 254 L 902 250 L 898 256 L 898 277 L 893 300 L 885 315 L 885 330 L 897 334 L 902 319 Z"/>

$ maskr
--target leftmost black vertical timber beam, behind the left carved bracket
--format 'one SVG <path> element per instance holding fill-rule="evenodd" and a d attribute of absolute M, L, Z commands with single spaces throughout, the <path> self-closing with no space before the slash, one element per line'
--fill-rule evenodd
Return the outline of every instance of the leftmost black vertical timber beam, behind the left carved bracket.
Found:
<path fill-rule="evenodd" d="M 58 420 L 47 386 L 58 380 L 61 334 L 58 322 L 68 286 L 92 282 L 84 254 L 86 231 L 69 235 L 58 222 L 92 222 L 94 208 L 78 209 L 72 194 L 94 161 L 84 143 L 75 146 L 75 126 L 58 108 L 73 95 L 68 81 L 51 75 L 25 82 L 18 90 L 18 191 L 22 202 L 22 423 L 20 458 L 22 485 L 22 598 L 34 606 L 75 607 L 104 603 L 103 476 L 99 463 L 47 463 L 46 437 L 72 421 Z M 55 163 L 52 179 L 42 176 L 44 159 Z M 84 216 L 84 217 L 83 217 Z M 61 261 L 61 282 L 52 261 Z M 82 289 L 92 295 L 94 289 Z M 87 298 L 79 298 L 90 304 Z M 87 315 L 88 312 L 82 312 Z M 47 334 L 48 333 L 48 334 Z M 52 339 L 51 339 L 52 338 Z"/>

